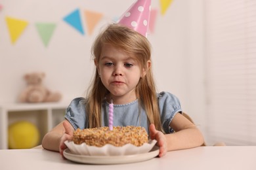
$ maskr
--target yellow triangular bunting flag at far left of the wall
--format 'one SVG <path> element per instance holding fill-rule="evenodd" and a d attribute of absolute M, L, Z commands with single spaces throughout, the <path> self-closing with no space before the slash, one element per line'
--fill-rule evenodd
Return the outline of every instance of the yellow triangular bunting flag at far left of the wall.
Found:
<path fill-rule="evenodd" d="M 14 44 L 14 42 L 17 41 L 18 37 L 22 34 L 26 26 L 28 25 L 28 22 L 24 20 L 18 20 L 16 18 L 6 17 L 5 18 L 7 22 L 7 26 L 9 29 L 9 34 L 11 37 L 11 42 Z"/>

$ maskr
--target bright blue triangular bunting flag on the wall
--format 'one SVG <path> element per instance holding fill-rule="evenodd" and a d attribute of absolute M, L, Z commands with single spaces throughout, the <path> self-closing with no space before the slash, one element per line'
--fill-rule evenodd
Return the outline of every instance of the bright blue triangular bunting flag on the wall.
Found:
<path fill-rule="evenodd" d="M 76 9 L 67 16 L 65 16 L 63 20 L 68 24 L 72 25 L 72 27 L 74 27 L 82 35 L 84 34 L 79 9 Z"/>

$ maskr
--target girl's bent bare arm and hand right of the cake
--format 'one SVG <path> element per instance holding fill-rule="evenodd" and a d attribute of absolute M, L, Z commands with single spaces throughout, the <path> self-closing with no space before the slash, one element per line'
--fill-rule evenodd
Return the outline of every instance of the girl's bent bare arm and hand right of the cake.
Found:
<path fill-rule="evenodd" d="M 167 151 L 194 148 L 203 144 L 204 139 L 200 130 L 182 114 L 176 114 L 170 126 L 175 133 L 164 135 L 156 130 L 154 124 L 150 124 L 150 138 L 158 141 L 160 157 Z"/>

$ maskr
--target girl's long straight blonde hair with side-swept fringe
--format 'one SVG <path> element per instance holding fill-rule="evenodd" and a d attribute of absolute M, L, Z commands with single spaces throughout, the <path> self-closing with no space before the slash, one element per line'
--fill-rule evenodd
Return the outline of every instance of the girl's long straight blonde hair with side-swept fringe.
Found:
<path fill-rule="evenodd" d="M 131 56 L 135 56 L 135 59 L 140 63 L 141 70 L 146 70 L 146 75 L 140 78 L 137 84 L 137 97 L 141 107 L 146 110 L 148 122 L 155 124 L 156 129 L 163 131 L 152 69 L 151 67 L 148 68 L 147 65 L 147 61 L 151 60 L 151 45 L 148 39 L 128 27 L 119 24 L 108 25 L 108 27 L 96 37 L 91 48 L 91 52 L 97 63 L 99 63 L 102 46 L 104 44 L 111 44 L 127 54 L 131 54 Z M 109 92 L 102 84 L 98 71 L 95 71 L 95 76 L 88 92 L 86 109 L 89 127 L 100 127 L 102 101 Z"/>

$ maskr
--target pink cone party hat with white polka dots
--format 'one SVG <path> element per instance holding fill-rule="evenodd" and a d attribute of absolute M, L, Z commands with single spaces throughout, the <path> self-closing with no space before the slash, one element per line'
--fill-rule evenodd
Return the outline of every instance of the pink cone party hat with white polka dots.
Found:
<path fill-rule="evenodd" d="M 147 37 L 150 22 L 151 0 L 137 0 L 121 16 L 119 24 L 131 27 L 135 31 Z"/>

